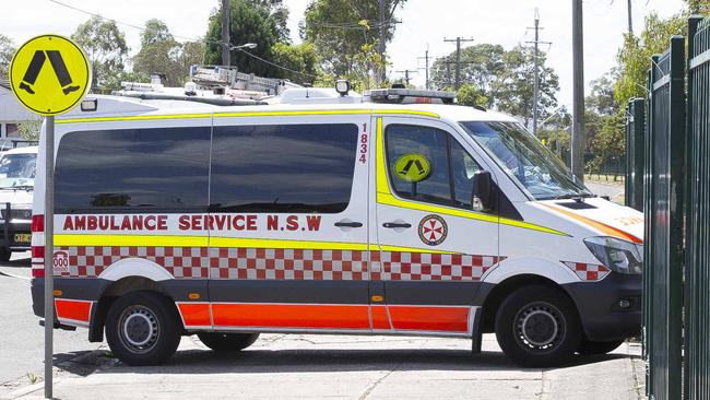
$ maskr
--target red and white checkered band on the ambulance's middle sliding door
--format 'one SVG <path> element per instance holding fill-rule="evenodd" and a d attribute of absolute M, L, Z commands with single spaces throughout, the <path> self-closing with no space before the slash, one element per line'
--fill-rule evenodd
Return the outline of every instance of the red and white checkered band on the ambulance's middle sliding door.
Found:
<path fill-rule="evenodd" d="M 367 251 L 212 248 L 211 279 L 369 280 Z"/>

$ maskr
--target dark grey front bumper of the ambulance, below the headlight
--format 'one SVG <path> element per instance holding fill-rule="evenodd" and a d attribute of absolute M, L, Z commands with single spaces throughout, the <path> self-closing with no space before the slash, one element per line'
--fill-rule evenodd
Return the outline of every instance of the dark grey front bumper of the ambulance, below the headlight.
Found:
<path fill-rule="evenodd" d="M 563 285 L 577 305 L 587 339 L 597 342 L 640 334 L 642 286 L 641 275 L 618 272 L 599 282 Z"/>

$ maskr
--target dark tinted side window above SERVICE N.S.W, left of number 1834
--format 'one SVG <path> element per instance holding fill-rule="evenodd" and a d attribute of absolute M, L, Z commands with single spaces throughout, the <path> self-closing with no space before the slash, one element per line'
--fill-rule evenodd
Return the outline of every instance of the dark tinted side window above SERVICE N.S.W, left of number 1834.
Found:
<path fill-rule="evenodd" d="M 352 123 L 215 127 L 211 210 L 344 211 L 357 134 Z"/>

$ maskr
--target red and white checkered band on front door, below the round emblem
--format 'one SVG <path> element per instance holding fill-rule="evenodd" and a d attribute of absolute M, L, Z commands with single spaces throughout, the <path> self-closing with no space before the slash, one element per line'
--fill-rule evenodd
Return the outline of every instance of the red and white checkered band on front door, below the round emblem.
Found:
<path fill-rule="evenodd" d="M 496 256 L 380 251 L 386 281 L 480 281 L 504 258 Z"/>

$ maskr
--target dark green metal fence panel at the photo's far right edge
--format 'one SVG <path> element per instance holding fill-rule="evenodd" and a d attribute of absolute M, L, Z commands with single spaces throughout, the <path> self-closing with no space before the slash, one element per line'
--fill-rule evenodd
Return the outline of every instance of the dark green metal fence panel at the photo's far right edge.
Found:
<path fill-rule="evenodd" d="M 710 20 L 688 25 L 684 397 L 710 399 Z"/>

